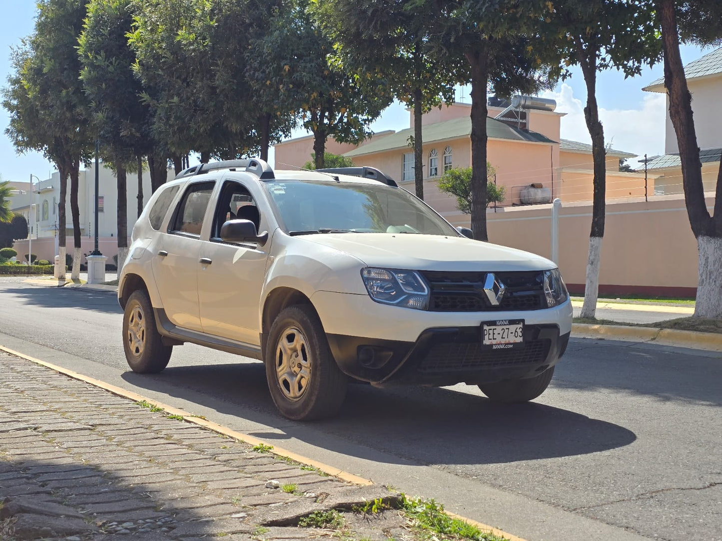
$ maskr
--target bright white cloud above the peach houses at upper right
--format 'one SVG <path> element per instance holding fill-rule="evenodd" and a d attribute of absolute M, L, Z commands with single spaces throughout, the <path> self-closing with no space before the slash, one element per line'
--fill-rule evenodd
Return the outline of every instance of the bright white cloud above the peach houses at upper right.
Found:
<path fill-rule="evenodd" d="M 567 113 L 562 118 L 562 138 L 590 143 L 589 131 L 584 120 L 586 103 L 574 97 L 572 87 L 564 83 L 558 92 L 547 91 L 542 97 L 557 100 L 557 113 Z M 638 109 L 599 108 L 599 118 L 604 126 L 604 141 L 617 150 L 635 152 L 639 156 L 664 154 L 664 122 L 666 100 L 664 94 L 646 92 Z M 631 164 L 635 167 L 637 164 Z"/>

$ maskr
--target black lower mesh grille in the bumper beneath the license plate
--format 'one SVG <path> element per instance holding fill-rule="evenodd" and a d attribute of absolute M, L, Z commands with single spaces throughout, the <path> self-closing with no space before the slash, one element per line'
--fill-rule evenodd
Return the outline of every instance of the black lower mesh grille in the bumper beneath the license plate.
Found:
<path fill-rule="evenodd" d="M 530 340 L 522 348 L 487 349 L 480 341 L 433 345 L 419 364 L 422 372 L 473 371 L 544 362 L 551 340 Z"/>

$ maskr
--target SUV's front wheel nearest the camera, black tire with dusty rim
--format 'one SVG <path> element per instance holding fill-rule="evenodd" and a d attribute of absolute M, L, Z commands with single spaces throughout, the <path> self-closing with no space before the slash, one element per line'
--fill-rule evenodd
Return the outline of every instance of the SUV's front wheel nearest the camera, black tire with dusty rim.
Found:
<path fill-rule="evenodd" d="M 348 379 L 331 354 L 313 307 L 287 307 L 271 325 L 266 344 L 266 378 L 279 412 L 293 421 L 335 415 Z"/>

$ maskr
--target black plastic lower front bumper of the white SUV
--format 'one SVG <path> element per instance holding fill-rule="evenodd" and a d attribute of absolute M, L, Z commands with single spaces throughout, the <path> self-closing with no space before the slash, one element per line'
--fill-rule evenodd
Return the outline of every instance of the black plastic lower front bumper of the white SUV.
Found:
<path fill-rule="evenodd" d="M 523 347 L 482 348 L 481 327 L 425 330 L 416 342 L 329 334 L 339 367 L 375 384 L 482 384 L 534 377 L 564 354 L 570 333 L 557 325 L 526 325 Z"/>

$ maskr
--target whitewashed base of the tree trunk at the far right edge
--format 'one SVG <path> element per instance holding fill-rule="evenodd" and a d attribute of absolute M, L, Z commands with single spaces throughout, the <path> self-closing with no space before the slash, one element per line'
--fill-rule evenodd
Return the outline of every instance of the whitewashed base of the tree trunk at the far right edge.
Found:
<path fill-rule="evenodd" d="M 695 316 L 722 319 L 722 238 L 697 237 L 700 252 Z"/>

